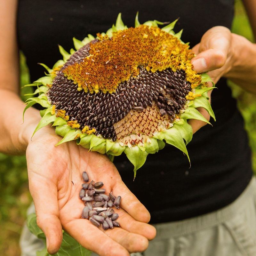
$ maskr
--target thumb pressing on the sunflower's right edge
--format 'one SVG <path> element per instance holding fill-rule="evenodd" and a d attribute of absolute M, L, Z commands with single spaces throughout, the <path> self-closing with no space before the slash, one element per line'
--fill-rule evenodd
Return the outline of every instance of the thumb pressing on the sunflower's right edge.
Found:
<path fill-rule="evenodd" d="M 198 53 L 191 60 L 198 73 L 221 68 L 230 51 L 231 32 L 228 28 L 217 26 L 209 29 L 192 51 Z"/>

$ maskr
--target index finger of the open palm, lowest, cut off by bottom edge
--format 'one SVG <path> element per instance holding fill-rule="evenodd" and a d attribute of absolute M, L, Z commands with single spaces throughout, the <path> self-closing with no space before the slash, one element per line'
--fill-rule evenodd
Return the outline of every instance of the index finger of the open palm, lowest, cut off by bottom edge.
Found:
<path fill-rule="evenodd" d="M 65 230 L 86 249 L 100 256 L 130 256 L 130 253 L 89 220 L 76 219 L 64 225 Z"/>

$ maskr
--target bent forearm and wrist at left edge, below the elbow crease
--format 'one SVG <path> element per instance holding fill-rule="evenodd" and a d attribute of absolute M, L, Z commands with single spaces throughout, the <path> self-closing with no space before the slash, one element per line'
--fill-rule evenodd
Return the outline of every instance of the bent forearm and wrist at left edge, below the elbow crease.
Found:
<path fill-rule="evenodd" d="M 9 90 L 0 89 L 0 97 L 0 152 L 23 154 L 40 120 L 39 111 L 29 108 L 23 123 L 22 115 L 26 105 L 19 96 Z"/>

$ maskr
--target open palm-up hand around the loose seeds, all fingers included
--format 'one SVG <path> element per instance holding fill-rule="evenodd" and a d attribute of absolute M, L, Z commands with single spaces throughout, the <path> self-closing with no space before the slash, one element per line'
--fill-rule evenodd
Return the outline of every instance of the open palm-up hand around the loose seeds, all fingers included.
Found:
<path fill-rule="evenodd" d="M 44 127 L 36 132 L 26 152 L 29 189 L 48 252 L 58 251 L 62 228 L 99 255 L 128 256 L 130 252 L 144 251 L 156 230 L 147 224 L 149 212 L 125 186 L 114 164 L 107 156 L 88 152 L 74 141 L 55 147 L 60 139 L 54 129 Z M 122 197 L 121 209 L 115 209 L 121 228 L 105 231 L 81 219 L 84 203 L 79 191 L 84 171 L 90 180 L 102 181 L 106 193 L 113 190 L 114 195 Z"/>

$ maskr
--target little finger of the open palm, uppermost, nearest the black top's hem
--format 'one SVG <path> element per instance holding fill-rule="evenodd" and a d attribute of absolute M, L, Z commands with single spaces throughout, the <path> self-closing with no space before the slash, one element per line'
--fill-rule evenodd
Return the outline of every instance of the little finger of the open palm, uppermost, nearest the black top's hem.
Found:
<path fill-rule="evenodd" d="M 140 203 L 136 196 L 126 187 L 122 180 L 115 183 L 113 187 L 114 195 L 121 196 L 121 208 L 128 212 L 135 220 L 149 222 L 150 213 L 146 207 Z"/>

